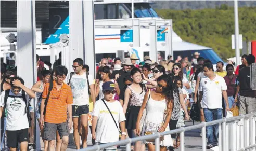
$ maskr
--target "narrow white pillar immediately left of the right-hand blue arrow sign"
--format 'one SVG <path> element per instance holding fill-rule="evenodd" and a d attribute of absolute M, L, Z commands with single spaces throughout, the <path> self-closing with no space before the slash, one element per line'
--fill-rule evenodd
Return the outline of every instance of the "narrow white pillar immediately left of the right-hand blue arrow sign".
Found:
<path fill-rule="evenodd" d="M 149 56 L 152 61 L 158 62 L 157 60 L 157 26 L 156 20 L 149 20 L 150 29 L 150 40 L 149 40 Z"/>

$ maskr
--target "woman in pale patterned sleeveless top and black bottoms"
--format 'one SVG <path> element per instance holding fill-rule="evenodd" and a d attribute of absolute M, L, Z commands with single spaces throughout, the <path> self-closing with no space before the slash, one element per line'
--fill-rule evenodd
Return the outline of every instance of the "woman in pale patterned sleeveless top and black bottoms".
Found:
<path fill-rule="evenodd" d="M 142 73 L 138 68 L 131 70 L 131 78 L 133 83 L 127 86 L 124 93 L 123 112 L 126 116 L 126 129 L 133 130 L 133 133 L 136 134 L 137 117 L 147 90 L 146 86 L 142 84 Z M 129 135 L 131 136 L 131 134 Z M 145 146 L 143 146 L 138 141 L 135 143 L 135 150 L 145 150 Z"/>

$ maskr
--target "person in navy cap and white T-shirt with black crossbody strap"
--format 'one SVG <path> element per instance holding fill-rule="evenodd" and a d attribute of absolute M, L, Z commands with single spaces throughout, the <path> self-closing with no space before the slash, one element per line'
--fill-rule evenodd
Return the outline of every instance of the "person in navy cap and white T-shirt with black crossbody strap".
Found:
<path fill-rule="evenodd" d="M 126 138 L 126 119 L 120 102 L 113 99 L 113 95 L 116 93 L 114 83 L 105 82 L 102 88 L 104 99 L 96 101 L 93 108 L 92 137 L 96 139 L 97 144 L 117 142 L 119 129 L 121 129 L 121 140 L 124 140 Z M 104 150 L 117 150 L 117 146 Z"/>

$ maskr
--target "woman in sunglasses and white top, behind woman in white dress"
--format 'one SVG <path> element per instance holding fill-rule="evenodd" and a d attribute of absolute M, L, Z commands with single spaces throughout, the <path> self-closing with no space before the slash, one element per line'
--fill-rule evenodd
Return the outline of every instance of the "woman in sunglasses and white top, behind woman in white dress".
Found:
<path fill-rule="evenodd" d="M 190 89 L 189 81 L 186 78 L 186 75 L 185 76 L 183 75 L 182 71 L 183 69 L 180 63 L 173 64 L 172 73 L 174 74 L 174 76 L 179 76 L 182 79 L 184 89 L 189 90 Z"/>

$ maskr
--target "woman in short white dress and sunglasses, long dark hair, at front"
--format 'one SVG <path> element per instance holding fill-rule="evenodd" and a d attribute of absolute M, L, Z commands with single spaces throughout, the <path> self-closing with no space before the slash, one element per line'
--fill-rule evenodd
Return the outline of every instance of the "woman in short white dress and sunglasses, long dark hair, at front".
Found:
<path fill-rule="evenodd" d="M 162 75 L 157 79 L 157 88 L 146 92 L 136 122 L 136 134 L 138 136 L 170 130 L 169 121 L 171 119 L 173 107 L 172 83 L 172 77 Z M 143 110 L 145 108 L 147 110 L 147 115 L 144 121 L 145 130 L 140 130 L 140 120 L 142 120 Z M 143 133 L 141 133 L 142 131 Z M 147 140 L 146 143 L 148 145 L 148 150 L 155 150 L 153 140 Z M 173 146 L 171 135 L 165 135 L 160 138 L 159 147 L 161 151 L 167 150 L 167 147 L 169 146 Z"/>

